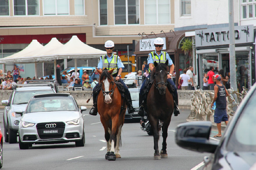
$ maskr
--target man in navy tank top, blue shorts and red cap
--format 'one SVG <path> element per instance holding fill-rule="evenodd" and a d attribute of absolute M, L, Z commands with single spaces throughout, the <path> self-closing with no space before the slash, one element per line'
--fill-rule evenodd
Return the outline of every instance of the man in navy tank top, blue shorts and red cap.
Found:
<path fill-rule="evenodd" d="M 216 108 L 214 110 L 214 123 L 217 123 L 218 134 L 213 137 L 221 137 L 221 122 L 225 122 L 226 125 L 229 122 L 227 118 L 227 101 L 226 96 L 229 96 L 227 89 L 223 84 L 220 83 L 221 76 L 216 75 L 214 77 L 214 82 L 216 81 L 216 85 L 214 86 L 214 98 L 211 103 L 211 107 L 213 107 L 213 103 L 216 102 Z"/>

